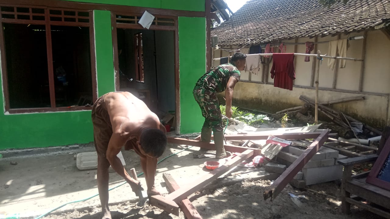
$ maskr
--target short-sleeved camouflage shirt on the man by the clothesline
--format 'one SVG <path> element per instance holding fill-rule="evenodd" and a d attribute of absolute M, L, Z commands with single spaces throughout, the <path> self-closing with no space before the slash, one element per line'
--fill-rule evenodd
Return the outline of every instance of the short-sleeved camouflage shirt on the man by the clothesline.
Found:
<path fill-rule="evenodd" d="M 226 90 L 230 77 L 240 79 L 240 71 L 231 63 L 219 65 L 206 72 L 199 78 L 195 87 L 202 87 L 208 90 L 215 90 L 220 93 Z"/>

